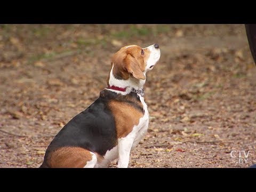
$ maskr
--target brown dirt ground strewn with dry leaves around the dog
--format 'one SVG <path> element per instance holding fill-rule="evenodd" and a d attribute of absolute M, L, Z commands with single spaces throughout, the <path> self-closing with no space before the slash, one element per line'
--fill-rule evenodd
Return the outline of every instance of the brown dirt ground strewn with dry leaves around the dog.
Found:
<path fill-rule="evenodd" d="M 55 134 L 107 86 L 111 55 L 154 43 L 149 130 L 129 167 L 256 163 L 256 67 L 244 25 L 0 25 L 0 167 L 39 167 Z M 232 150 L 250 150 L 247 162 Z"/>

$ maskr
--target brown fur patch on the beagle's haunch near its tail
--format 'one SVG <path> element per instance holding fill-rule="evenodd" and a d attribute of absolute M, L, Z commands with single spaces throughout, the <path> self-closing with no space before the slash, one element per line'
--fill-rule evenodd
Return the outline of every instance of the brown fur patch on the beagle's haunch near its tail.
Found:
<path fill-rule="evenodd" d="M 61 147 L 52 151 L 47 164 L 52 168 L 83 168 L 92 160 L 89 150 L 81 147 Z"/>

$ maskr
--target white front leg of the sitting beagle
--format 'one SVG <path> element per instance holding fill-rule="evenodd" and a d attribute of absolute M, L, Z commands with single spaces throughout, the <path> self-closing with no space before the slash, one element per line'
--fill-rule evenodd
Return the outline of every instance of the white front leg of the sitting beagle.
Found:
<path fill-rule="evenodd" d="M 118 139 L 118 168 L 127 168 L 134 138 Z"/>

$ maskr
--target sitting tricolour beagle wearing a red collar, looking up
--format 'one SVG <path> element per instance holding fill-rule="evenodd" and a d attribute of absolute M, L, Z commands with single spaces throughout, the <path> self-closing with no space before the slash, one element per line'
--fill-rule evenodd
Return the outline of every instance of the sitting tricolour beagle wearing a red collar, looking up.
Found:
<path fill-rule="evenodd" d="M 131 149 L 148 129 L 143 85 L 160 55 L 157 44 L 129 45 L 116 52 L 108 87 L 54 137 L 40 167 L 107 167 L 117 158 L 118 167 L 128 167 Z"/>

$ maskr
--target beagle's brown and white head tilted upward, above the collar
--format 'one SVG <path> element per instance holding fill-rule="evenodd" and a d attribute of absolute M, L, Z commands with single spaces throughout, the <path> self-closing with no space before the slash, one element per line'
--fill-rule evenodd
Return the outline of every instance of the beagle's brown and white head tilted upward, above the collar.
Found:
<path fill-rule="evenodd" d="M 113 55 L 108 83 L 116 80 L 135 81 L 146 80 L 147 71 L 153 69 L 160 58 L 160 49 L 157 44 L 141 48 L 138 45 L 122 47 Z M 111 76 L 112 79 L 111 79 Z M 121 82 L 119 82 L 121 83 Z"/>

